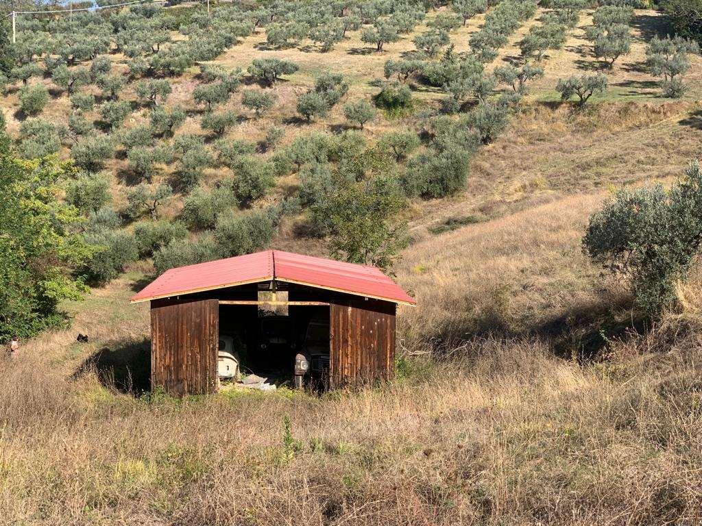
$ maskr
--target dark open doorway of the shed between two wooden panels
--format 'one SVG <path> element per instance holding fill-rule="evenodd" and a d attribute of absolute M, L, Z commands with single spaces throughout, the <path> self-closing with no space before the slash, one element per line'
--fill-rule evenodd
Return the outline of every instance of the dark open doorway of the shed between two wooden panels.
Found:
<path fill-rule="evenodd" d="M 301 353 L 310 364 L 305 387 L 326 389 L 329 348 L 329 306 L 291 305 L 287 316 L 260 311 L 256 305 L 219 306 L 218 374 L 222 384 L 256 375 L 278 387 L 292 387 L 295 358 Z M 222 353 L 234 356 L 240 375 L 223 377 Z"/>

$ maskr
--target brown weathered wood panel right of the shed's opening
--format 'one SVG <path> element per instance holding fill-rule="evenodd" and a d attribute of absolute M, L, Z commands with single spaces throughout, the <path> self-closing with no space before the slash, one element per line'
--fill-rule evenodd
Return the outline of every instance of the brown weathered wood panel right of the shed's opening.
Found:
<path fill-rule="evenodd" d="M 395 304 L 333 303 L 329 311 L 329 376 L 332 387 L 392 377 L 395 369 Z"/>

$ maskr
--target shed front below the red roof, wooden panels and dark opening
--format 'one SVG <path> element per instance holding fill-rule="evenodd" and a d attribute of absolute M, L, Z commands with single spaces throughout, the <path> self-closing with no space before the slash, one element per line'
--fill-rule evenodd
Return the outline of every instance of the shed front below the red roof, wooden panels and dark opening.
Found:
<path fill-rule="evenodd" d="M 298 353 L 311 364 L 309 389 L 388 379 L 394 370 L 394 302 L 273 280 L 151 304 L 152 386 L 176 396 L 217 391 L 218 356 L 230 346 L 241 372 L 278 385 L 292 384 Z"/>

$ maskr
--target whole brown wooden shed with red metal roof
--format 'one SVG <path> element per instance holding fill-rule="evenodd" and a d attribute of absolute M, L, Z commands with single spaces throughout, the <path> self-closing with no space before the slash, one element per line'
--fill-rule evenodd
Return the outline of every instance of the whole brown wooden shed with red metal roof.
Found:
<path fill-rule="evenodd" d="M 376 267 L 280 250 L 168 270 L 131 299 L 146 301 L 152 389 L 174 396 L 217 390 L 227 339 L 256 374 L 292 377 L 296 353 L 306 352 L 324 364 L 325 387 L 387 379 L 397 304 L 415 304 Z"/>

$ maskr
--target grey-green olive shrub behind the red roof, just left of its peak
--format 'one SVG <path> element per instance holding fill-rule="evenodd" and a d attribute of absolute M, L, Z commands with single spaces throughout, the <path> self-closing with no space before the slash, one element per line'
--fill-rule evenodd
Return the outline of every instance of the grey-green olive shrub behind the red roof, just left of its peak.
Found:
<path fill-rule="evenodd" d="M 225 214 L 217 221 L 214 238 L 223 257 L 251 254 L 267 248 L 276 226 L 275 217 L 267 210 Z"/>

